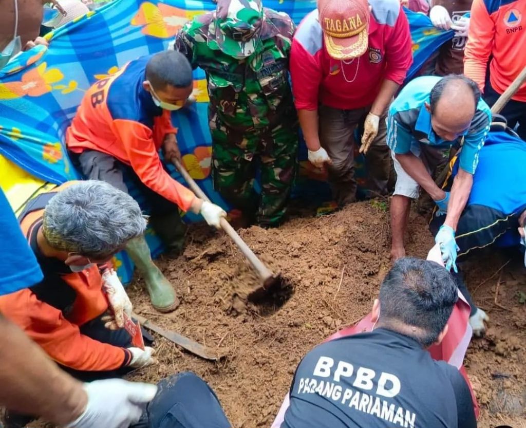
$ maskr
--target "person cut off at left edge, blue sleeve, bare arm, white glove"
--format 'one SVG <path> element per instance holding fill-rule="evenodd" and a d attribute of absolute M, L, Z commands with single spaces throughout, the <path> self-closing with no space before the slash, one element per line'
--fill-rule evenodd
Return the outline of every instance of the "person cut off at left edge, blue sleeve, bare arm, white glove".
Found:
<path fill-rule="evenodd" d="M 0 190 L 0 295 L 42 281 L 34 253 Z M 60 370 L 21 329 L 0 314 L 0 405 L 59 426 L 120 428 L 134 423 L 155 385 L 110 379 L 83 384 Z"/>

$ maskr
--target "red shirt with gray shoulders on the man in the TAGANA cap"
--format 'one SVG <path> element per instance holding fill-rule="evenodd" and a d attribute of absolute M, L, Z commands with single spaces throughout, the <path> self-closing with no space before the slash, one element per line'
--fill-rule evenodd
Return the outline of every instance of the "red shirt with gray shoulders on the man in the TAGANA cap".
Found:
<path fill-rule="evenodd" d="M 375 100 L 383 79 L 402 84 L 413 61 L 411 34 L 398 0 L 371 0 L 369 47 L 351 61 L 333 59 L 323 42 L 318 11 L 300 23 L 290 54 L 296 108 L 319 104 L 350 110 Z"/>

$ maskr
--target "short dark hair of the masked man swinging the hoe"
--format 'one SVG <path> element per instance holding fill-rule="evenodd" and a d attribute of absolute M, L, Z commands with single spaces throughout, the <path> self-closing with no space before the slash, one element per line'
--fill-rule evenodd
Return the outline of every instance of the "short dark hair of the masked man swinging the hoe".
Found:
<path fill-rule="evenodd" d="M 186 88 L 193 82 L 192 67 L 178 51 L 159 52 L 146 64 L 146 79 L 154 89 L 164 89 L 167 85 Z"/>

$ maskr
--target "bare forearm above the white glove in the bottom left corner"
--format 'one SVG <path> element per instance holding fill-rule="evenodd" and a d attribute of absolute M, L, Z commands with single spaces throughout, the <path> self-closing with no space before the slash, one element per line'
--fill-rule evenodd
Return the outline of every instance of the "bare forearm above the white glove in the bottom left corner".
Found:
<path fill-rule="evenodd" d="M 0 315 L 0 404 L 57 424 L 84 412 L 87 394 L 16 325 Z"/>

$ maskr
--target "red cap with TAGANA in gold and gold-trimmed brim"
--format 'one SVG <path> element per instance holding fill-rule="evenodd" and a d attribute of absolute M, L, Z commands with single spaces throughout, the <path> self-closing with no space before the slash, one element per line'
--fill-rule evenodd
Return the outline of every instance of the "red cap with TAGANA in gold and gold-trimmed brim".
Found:
<path fill-rule="evenodd" d="M 318 0 L 318 13 L 325 46 L 332 58 L 356 58 L 367 51 L 367 0 Z"/>

